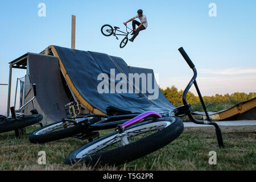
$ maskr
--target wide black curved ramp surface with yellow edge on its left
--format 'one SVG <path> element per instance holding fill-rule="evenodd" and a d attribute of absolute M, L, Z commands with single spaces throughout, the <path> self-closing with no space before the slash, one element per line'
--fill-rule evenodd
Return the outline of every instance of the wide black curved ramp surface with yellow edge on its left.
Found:
<path fill-rule="evenodd" d="M 108 106 L 115 106 L 123 110 L 130 110 L 133 113 L 142 113 L 144 111 L 169 111 L 175 106 L 173 106 L 160 92 L 159 97 L 155 100 L 150 100 L 148 97 L 150 93 L 142 93 L 142 85 L 134 85 L 131 82 L 125 81 L 127 85 L 131 84 L 133 87 L 132 93 L 111 93 L 110 82 L 113 81 L 115 85 L 120 82 L 119 80 L 110 80 L 111 70 L 118 73 L 123 73 L 124 75 L 129 75 L 129 73 L 143 72 L 152 73 L 154 78 L 154 72 L 152 69 L 143 68 L 133 68 L 128 67 L 125 61 L 121 58 L 109 56 L 105 53 L 98 52 L 88 52 L 79 51 L 76 49 L 63 48 L 58 46 L 53 46 L 63 64 L 72 84 L 81 94 L 82 98 L 89 102 L 94 108 L 101 110 L 106 113 L 105 109 Z M 98 92 L 98 84 L 102 80 L 98 80 L 98 76 L 104 73 L 108 76 L 109 88 L 107 93 Z M 113 83 L 112 82 L 112 83 Z M 155 82 L 154 79 L 152 82 Z M 139 93 L 135 93 L 135 89 L 138 87 Z M 128 86 L 127 86 L 128 88 Z"/>

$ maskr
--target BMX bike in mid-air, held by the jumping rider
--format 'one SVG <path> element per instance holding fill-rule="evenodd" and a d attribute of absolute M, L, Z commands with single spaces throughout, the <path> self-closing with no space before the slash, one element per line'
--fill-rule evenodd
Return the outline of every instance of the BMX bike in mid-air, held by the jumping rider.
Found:
<path fill-rule="evenodd" d="M 119 40 L 117 35 L 125 36 L 125 38 L 123 38 L 123 40 L 121 41 L 120 46 L 119 46 L 120 48 L 124 48 L 126 46 L 126 44 L 128 43 L 128 35 L 131 34 L 131 32 L 133 32 L 133 30 L 131 30 L 131 28 L 129 28 L 127 26 L 126 26 L 126 32 L 123 32 L 123 31 L 121 31 L 119 29 L 120 29 L 119 27 L 115 27 L 114 26 L 114 28 L 113 28 L 109 24 L 104 24 L 104 26 L 101 27 L 101 33 L 104 36 L 111 36 L 111 35 L 113 35 L 113 36 L 115 36 L 115 38 L 117 40 Z M 120 33 L 117 34 L 117 32 L 118 33 L 120 32 Z"/>

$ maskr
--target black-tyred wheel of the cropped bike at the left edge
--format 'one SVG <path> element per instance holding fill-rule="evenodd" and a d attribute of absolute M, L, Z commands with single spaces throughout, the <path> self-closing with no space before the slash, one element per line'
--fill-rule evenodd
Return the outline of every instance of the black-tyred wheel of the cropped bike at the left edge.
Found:
<path fill-rule="evenodd" d="M 14 119 L 7 119 L 0 125 L 0 133 L 5 133 L 8 131 L 22 129 L 30 125 L 34 125 L 43 119 L 41 114 L 24 115 L 18 118 L 15 122 Z"/>

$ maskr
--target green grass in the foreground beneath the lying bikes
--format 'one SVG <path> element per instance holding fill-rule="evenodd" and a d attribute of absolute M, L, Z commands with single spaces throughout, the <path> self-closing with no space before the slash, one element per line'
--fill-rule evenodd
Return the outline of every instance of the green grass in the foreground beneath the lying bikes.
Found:
<path fill-rule="evenodd" d="M 27 127 L 27 133 L 36 127 Z M 82 165 L 65 166 L 64 159 L 87 140 L 68 138 L 32 144 L 28 134 L 0 134 L 0 170 L 95 170 Z M 217 147 L 214 134 L 184 132 L 174 142 L 143 158 L 118 167 L 96 170 L 256 170 L 255 133 L 223 134 L 225 148 Z M 38 164 L 38 152 L 46 151 L 46 165 Z M 210 165 L 209 152 L 216 151 L 217 164 Z"/>

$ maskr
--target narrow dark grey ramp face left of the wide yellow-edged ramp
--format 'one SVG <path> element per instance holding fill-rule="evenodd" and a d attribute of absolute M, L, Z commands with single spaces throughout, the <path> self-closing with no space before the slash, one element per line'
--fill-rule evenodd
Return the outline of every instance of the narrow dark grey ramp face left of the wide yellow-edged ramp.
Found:
<path fill-rule="evenodd" d="M 53 121 L 65 118 L 64 106 L 69 102 L 65 93 L 59 67 L 59 59 L 54 56 L 29 54 L 27 73 L 32 84 L 36 84 L 36 100 Z"/>

